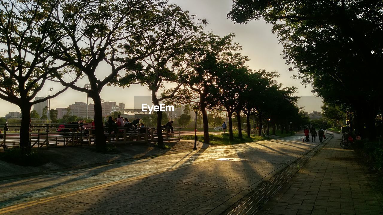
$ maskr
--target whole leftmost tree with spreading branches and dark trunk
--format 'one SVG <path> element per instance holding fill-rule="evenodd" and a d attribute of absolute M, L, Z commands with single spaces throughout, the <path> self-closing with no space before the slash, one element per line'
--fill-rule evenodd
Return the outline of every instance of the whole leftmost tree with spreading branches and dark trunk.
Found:
<path fill-rule="evenodd" d="M 49 50 L 54 49 L 56 39 L 65 35 L 57 31 L 52 21 L 59 16 L 56 9 L 60 1 L 21 0 L 0 1 L 0 98 L 16 104 L 21 109 L 20 147 L 30 150 L 29 121 L 33 104 L 54 98 L 57 93 L 32 101 L 49 77 L 61 77 L 69 64 L 57 63 Z M 55 39 L 56 38 L 56 39 Z"/>

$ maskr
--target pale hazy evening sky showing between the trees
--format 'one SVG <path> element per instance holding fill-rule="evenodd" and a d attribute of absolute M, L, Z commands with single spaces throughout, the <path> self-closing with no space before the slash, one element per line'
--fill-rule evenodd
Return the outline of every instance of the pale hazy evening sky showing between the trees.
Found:
<path fill-rule="evenodd" d="M 234 24 L 228 20 L 227 13 L 231 10 L 231 0 L 170 0 L 169 3 L 179 5 L 183 10 L 187 10 L 190 14 L 197 15 L 197 18 L 206 19 L 209 24 L 205 30 L 219 36 L 225 36 L 234 33 L 236 37 L 234 42 L 238 42 L 242 46 L 242 55 L 250 58 L 248 62 L 249 68 L 258 70 L 265 69 L 267 71 L 276 70 L 280 77 L 277 80 L 283 86 L 295 86 L 298 88 L 297 96 L 313 96 L 311 87 L 306 88 L 300 84 L 300 80 L 294 80 L 292 75 L 295 72 L 288 71 L 289 65 L 286 65 L 282 58 L 282 44 L 278 43 L 278 38 L 271 33 L 272 25 L 263 20 L 250 21 L 248 24 Z M 100 79 L 105 77 L 104 71 L 108 67 L 100 65 L 97 69 Z M 88 82 L 86 79 L 77 81 L 78 86 L 83 86 Z M 46 96 L 49 88 L 53 87 L 52 93 L 61 90 L 63 87 L 59 83 L 46 83 L 37 96 Z M 133 108 L 134 96 L 149 96 L 150 93 L 146 86 L 133 85 L 129 88 L 118 88 L 115 86 L 106 86 L 100 93 L 101 99 L 105 101 L 115 101 L 124 103 L 126 108 Z M 298 102 L 298 106 L 304 104 L 306 112 L 321 111 L 321 99 L 311 97 L 312 102 Z M 65 108 L 74 102 L 86 102 L 86 94 L 72 89 L 65 91 L 54 99 L 51 99 L 51 109 Z M 89 98 L 88 103 L 93 103 Z M 10 111 L 20 111 L 15 104 L 0 100 L 0 116 L 5 116 Z"/>

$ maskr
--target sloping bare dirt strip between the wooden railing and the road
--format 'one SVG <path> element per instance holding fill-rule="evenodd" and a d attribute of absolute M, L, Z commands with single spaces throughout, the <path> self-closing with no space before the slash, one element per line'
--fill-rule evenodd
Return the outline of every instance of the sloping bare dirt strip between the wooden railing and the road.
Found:
<path fill-rule="evenodd" d="M 49 158 L 48 163 L 34 167 L 18 166 L 0 161 L 0 180 L 191 151 L 194 147 L 194 141 L 181 140 L 179 142 L 168 142 L 165 145 L 169 145 L 171 149 L 165 150 L 154 147 L 154 143 L 117 144 L 116 150 L 118 153 L 113 154 L 98 153 L 85 146 L 39 149 L 39 153 L 43 153 L 44 156 Z M 197 148 L 201 147 L 213 146 L 198 142 Z"/>

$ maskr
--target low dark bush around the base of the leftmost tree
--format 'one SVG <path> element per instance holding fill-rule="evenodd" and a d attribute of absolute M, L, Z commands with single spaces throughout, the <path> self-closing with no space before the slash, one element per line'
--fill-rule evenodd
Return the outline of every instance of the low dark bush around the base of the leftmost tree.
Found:
<path fill-rule="evenodd" d="M 19 148 L 13 148 L 0 153 L 0 160 L 20 166 L 40 166 L 49 161 L 41 151 L 32 150 L 24 152 Z"/>

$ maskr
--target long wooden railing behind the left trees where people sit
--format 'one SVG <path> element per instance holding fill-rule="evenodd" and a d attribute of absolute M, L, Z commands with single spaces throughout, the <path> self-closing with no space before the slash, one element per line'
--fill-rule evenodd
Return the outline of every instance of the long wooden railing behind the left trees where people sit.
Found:
<path fill-rule="evenodd" d="M 64 125 L 65 128 L 59 127 Z M 20 145 L 19 133 L 7 132 L 7 128 L 20 128 L 20 124 L 2 124 L 3 139 L 0 140 L 0 148 L 17 147 Z M 94 129 L 81 129 L 81 124 L 33 124 L 29 132 L 29 140 L 32 147 L 66 147 L 79 145 L 92 145 L 95 142 Z M 63 129 L 58 131 L 58 129 Z M 140 132 L 141 129 L 141 132 Z M 160 137 L 164 141 L 179 141 L 181 139 L 181 128 L 173 128 L 174 133 L 168 129 L 160 131 Z M 13 129 L 16 130 L 16 129 Z M 114 129 L 112 129 L 114 130 Z M 136 127 L 131 130 L 128 127 L 117 127 L 117 132 L 109 132 L 108 127 L 104 127 L 105 139 L 107 143 L 138 143 L 138 142 L 157 142 L 159 134 L 156 127 Z M 145 130 L 145 132 L 143 132 Z"/>

